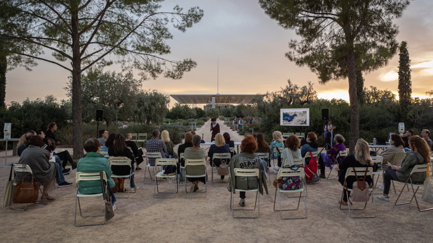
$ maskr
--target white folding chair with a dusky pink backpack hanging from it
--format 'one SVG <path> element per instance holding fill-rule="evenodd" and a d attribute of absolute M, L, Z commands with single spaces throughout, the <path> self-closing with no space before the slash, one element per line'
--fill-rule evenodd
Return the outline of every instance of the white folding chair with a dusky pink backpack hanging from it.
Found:
<path fill-rule="evenodd" d="M 364 177 L 364 174 L 365 174 L 365 171 L 367 170 L 367 176 L 370 176 L 371 178 L 373 178 L 373 168 L 372 167 L 355 167 L 355 172 L 356 172 L 356 174 L 358 175 L 358 178 L 359 177 Z M 341 201 L 343 201 L 343 194 L 344 193 L 346 193 L 346 196 L 347 196 L 347 200 L 349 200 L 349 195 L 348 195 L 348 193 L 347 193 L 347 191 L 349 191 L 349 192 L 353 192 L 353 189 L 350 189 L 350 188 L 347 188 L 347 191 L 346 191 L 346 179 L 347 179 L 347 177 L 349 177 L 349 176 L 355 176 L 355 172 L 354 172 L 354 168 L 347 168 L 347 170 L 346 170 L 346 175 L 344 176 L 344 185 L 343 185 L 343 193 L 341 194 Z M 372 197 L 373 197 L 373 205 L 374 205 L 374 216 L 364 216 L 364 217 L 354 217 L 354 216 L 352 216 L 351 215 L 351 212 L 350 212 L 350 210 L 364 210 L 365 208 L 366 208 L 366 206 L 367 206 L 367 202 L 365 202 L 365 204 L 364 204 L 364 208 L 352 208 L 352 209 L 350 209 L 350 202 L 348 202 L 347 203 L 347 206 L 348 206 L 348 210 L 349 210 L 349 216 L 350 216 L 350 218 L 353 218 L 353 219 L 359 219 L 359 218 L 376 218 L 376 216 L 377 216 L 377 211 L 376 211 L 376 201 L 374 200 L 374 192 L 373 192 L 373 187 L 372 187 L 372 183 L 369 185 L 370 187 L 369 187 L 369 189 L 368 189 L 368 191 L 370 191 L 370 194 L 372 195 Z M 343 209 L 343 208 L 341 208 L 341 203 L 340 203 L 340 209 L 341 210 L 346 210 L 346 209 Z"/>

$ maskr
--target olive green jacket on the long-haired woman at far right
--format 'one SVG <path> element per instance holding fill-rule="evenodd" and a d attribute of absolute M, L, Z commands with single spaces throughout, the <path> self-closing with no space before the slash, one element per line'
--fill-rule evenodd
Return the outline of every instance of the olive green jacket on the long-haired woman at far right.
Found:
<path fill-rule="evenodd" d="M 410 153 L 406 158 L 404 158 L 401 162 L 401 167 L 396 171 L 398 179 L 405 182 L 409 178 L 409 175 L 411 175 L 414 166 L 422 163 L 424 163 L 424 157 L 422 157 L 420 153 Z M 425 172 L 416 172 L 412 174 L 411 179 L 413 183 L 422 183 L 425 180 L 425 177 Z"/>

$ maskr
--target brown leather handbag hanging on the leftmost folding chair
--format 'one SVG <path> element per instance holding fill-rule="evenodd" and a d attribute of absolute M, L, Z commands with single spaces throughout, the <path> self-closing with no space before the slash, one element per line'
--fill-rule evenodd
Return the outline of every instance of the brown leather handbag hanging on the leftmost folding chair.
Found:
<path fill-rule="evenodd" d="M 14 203 L 33 203 L 38 201 L 39 183 L 34 180 L 32 173 L 32 182 L 24 182 L 24 173 L 22 173 L 21 181 L 18 181 L 14 190 Z"/>

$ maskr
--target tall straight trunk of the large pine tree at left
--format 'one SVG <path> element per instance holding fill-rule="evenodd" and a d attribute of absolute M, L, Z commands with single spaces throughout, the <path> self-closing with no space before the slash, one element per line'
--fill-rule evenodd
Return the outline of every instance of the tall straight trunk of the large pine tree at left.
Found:
<path fill-rule="evenodd" d="M 73 158 L 81 159 L 83 151 L 83 119 L 81 109 L 81 58 L 78 35 L 78 4 L 71 6 L 72 21 L 72 129 Z"/>

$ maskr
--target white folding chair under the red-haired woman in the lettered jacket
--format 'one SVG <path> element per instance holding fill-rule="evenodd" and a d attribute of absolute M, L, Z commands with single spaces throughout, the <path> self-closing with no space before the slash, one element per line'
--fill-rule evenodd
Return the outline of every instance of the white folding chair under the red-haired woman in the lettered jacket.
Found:
<path fill-rule="evenodd" d="M 234 169 L 234 176 L 236 178 L 236 176 L 242 176 L 242 177 L 257 177 L 257 189 L 248 189 L 248 190 L 241 190 L 241 189 L 236 189 L 233 187 L 232 185 L 232 191 L 231 191 L 231 196 L 230 196 L 230 209 L 232 209 L 232 216 L 235 219 L 257 219 L 260 217 L 260 195 L 259 195 L 259 176 L 260 176 L 260 170 L 258 168 L 255 169 L 241 169 L 241 168 L 235 168 Z M 248 178 L 247 178 L 248 179 Z M 254 208 L 252 209 L 235 209 L 234 208 L 234 192 L 256 192 L 256 200 L 254 203 Z M 258 202 L 258 214 L 257 217 L 235 217 L 234 216 L 234 211 L 249 211 L 249 210 L 256 210 L 256 206 L 257 206 L 257 202 Z M 232 207 L 233 206 L 233 207 Z"/>

